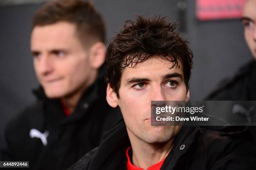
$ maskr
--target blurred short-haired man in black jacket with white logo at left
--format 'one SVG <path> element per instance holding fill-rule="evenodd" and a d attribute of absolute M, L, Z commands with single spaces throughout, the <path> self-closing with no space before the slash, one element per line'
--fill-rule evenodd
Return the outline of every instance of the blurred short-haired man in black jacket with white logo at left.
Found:
<path fill-rule="evenodd" d="M 38 101 L 5 130 L 0 160 L 63 169 L 96 147 L 118 114 L 105 99 L 105 24 L 91 3 L 56 0 L 33 18 L 31 52 Z M 114 110 L 114 112 L 119 112 Z"/>

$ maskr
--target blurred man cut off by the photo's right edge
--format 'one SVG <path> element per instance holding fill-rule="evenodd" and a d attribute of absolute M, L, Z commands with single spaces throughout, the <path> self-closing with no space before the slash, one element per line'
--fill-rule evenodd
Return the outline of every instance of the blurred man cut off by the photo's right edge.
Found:
<path fill-rule="evenodd" d="M 247 0 L 242 15 L 244 37 L 251 50 L 253 60 L 242 66 L 236 75 L 229 80 L 223 80 L 205 100 L 256 100 L 256 0 Z M 241 59 L 243 56 L 241 56 Z M 230 112 L 232 114 L 232 108 Z M 251 127 L 256 146 L 256 128 Z"/>

